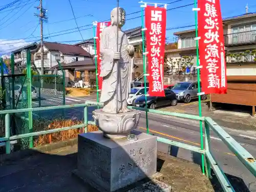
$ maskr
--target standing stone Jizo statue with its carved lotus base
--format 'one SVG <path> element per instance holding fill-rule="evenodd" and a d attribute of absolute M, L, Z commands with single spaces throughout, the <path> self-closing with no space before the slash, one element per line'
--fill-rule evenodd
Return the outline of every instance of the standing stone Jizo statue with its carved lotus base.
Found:
<path fill-rule="evenodd" d="M 119 18 L 117 19 L 117 8 L 113 9 L 111 26 L 104 28 L 100 36 L 100 76 L 103 77 L 100 102 L 104 106 L 103 109 L 93 111 L 99 130 L 105 137 L 112 139 L 127 137 L 136 129 L 140 118 L 139 111 L 127 109 L 126 100 L 131 90 L 134 66 L 134 47 L 128 44 L 127 36 L 121 30 L 125 23 L 125 11 L 118 9 Z"/>

